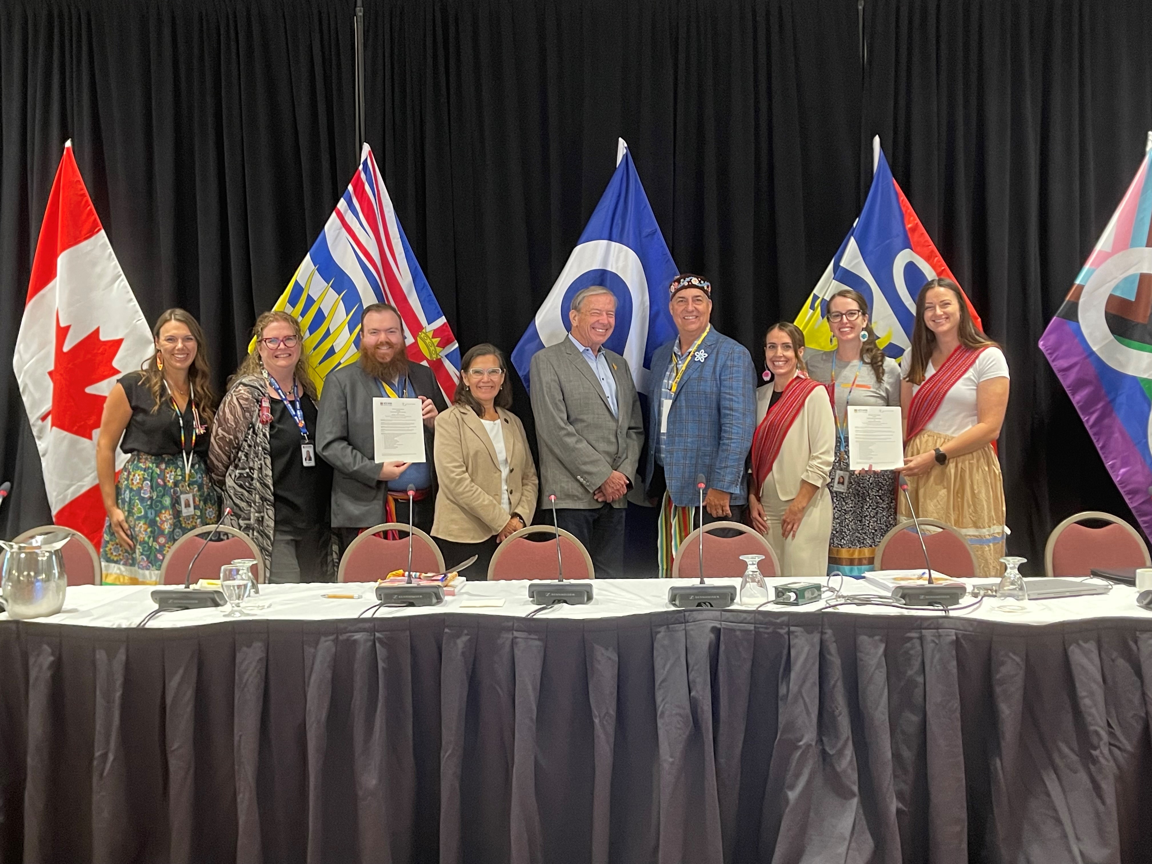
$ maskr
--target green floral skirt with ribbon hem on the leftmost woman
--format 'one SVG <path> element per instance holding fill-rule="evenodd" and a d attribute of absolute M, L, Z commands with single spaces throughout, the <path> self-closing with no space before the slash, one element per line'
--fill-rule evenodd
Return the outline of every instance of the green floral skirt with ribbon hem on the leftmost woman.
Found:
<path fill-rule="evenodd" d="M 191 516 L 180 515 L 181 492 L 192 493 Z M 116 501 L 124 511 L 134 548 L 126 550 L 104 521 L 100 564 L 107 585 L 154 585 L 172 544 L 192 529 L 215 524 L 220 503 L 207 469 L 192 457 L 192 473 L 184 480 L 180 456 L 132 453 L 116 480 Z"/>

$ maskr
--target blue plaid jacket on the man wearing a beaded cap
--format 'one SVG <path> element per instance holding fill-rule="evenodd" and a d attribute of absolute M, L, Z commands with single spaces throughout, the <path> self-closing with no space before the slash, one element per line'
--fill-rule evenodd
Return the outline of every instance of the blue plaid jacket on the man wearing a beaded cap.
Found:
<path fill-rule="evenodd" d="M 650 380 L 653 387 L 649 400 L 645 485 L 651 484 L 655 467 L 655 439 L 660 434 L 660 381 L 672 363 L 674 344 L 673 341 L 660 346 L 652 355 Z M 734 505 L 746 503 L 744 471 L 755 431 L 756 370 L 752 356 L 740 342 L 713 328 L 688 359 L 668 414 L 668 432 L 661 457 L 672 502 L 677 507 L 696 505 L 696 475 L 703 473 L 707 488 L 730 492 Z"/>

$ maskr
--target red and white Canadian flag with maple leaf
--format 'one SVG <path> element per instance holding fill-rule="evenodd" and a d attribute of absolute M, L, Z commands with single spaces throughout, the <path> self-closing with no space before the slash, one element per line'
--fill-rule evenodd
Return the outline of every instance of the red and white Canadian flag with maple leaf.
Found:
<path fill-rule="evenodd" d="M 96 478 L 100 415 L 116 379 L 139 369 L 152 346 L 68 142 L 36 243 L 13 370 L 53 521 L 97 548 L 105 517 Z M 118 449 L 118 471 L 126 460 Z"/>

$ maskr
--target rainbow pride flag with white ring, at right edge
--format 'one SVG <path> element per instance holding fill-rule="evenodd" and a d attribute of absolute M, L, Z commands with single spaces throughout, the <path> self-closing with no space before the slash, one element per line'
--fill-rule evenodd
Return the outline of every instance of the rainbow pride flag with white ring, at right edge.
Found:
<path fill-rule="evenodd" d="M 1149 132 L 1152 147 L 1152 132 Z M 1152 170 L 1144 156 L 1040 339 L 1116 486 L 1152 533 Z"/>

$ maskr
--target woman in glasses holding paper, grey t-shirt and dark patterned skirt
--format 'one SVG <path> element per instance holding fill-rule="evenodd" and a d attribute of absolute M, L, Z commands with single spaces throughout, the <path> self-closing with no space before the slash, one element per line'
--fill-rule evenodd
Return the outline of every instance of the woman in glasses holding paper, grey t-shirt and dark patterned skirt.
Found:
<path fill-rule="evenodd" d="M 869 323 L 867 301 L 844 288 L 828 300 L 825 319 L 836 340 L 834 350 L 808 350 L 809 376 L 833 393 L 836 458 L 832 463 L 832 539 L 828 571 L 861 578 L 873 569 L 876 548 L 896 524 L 896 472 L 851 472 L 849 407 L 900 408 L 900 365 L 885 356 Z"/>

